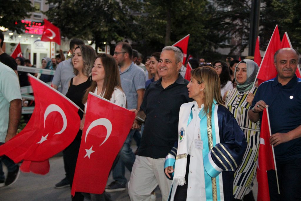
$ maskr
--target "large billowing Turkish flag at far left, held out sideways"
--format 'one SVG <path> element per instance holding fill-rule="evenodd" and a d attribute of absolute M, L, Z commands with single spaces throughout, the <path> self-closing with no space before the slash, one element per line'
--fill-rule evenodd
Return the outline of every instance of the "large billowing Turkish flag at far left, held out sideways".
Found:
<path fill-rule="evenodd" d="M 7 155 L 16 163 L 21 160 L 37 162 L 25 162 L 21 169 L 38 173 L 41 171 L 35 172 L 38 168 L 34 165 L 42 162 L 47 167 L 45 161 L 65 149 L 76 137 L 80 124 L 79 107 L 41 80 L 28 76 L 35 96 L 35 109 L 25 128 L 0 146 L 0 155 Z"/>

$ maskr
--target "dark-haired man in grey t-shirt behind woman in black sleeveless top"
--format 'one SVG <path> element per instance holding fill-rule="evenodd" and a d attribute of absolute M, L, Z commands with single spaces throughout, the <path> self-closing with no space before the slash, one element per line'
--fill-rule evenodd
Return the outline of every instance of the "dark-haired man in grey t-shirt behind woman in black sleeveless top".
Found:
<path fill-rule="evenodd" d="M 73 54 L 75 48 L 79 45 L 85 45 L 85 43 L 80 39 L 72 39 L 70 41 L 70 53 Z M 58 90 L 58 86 L 61 84 L 61 90 L 60 92 L 64 95 L 66 95 L 68 88 L 69 88 L 69 82 L 72 77 L 74 77 L 73 73 L 73 65 L 71 63 L 71 58 L 65 61 L 62 61 L 58 64 L 54 77 L 52 80 L 52 86 L 54 89 Z"/>

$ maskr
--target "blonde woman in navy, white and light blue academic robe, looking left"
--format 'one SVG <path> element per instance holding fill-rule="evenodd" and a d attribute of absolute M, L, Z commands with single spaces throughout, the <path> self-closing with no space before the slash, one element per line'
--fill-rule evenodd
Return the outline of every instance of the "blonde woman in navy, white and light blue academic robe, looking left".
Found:
<path fill-rule="evenodd" d="M 194 101 L 180 108 L 178 143 L 164 165 L 166 176 L 173 177 L 169 200 L 232 200 L 233 174 L 247 145 L 244 133 L 222 105 L 216 70 L 192 70 L 187 88 Z"/>

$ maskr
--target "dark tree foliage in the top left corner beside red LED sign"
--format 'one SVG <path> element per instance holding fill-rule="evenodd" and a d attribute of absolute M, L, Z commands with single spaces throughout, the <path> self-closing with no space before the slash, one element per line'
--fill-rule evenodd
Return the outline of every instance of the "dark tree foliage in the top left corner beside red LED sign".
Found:
<path fill-rule="evenodd" d="M 29 0 L 0 0 L 0 26 L 17 33 L 23 33 L 25 29 L 21 20 L 30 17 L 34 11 Z"/>

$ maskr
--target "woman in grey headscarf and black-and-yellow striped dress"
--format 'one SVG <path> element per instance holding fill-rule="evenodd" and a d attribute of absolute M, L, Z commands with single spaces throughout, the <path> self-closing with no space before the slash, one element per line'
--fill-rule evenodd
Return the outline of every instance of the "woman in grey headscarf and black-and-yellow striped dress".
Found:
<path fill-rule="evenodd" d="M 258 65 L 254 61 L 240 61 L 234 71 L 237 86 L 228 91 L 225 101 L 226 107 L 236 118 L 247 139 L 243 162 L 234 173 L 233 194 L 236 200 L 254 200 L 252 187 L 256 177 L 260 130 L 259 122 L 251 122 L 247 114 L 257 90 L 253 88 L 257 71 Z"/>

